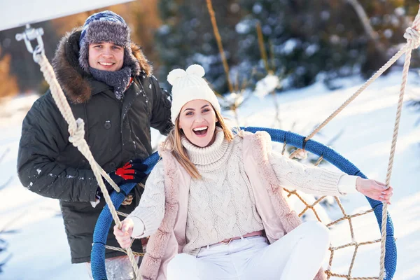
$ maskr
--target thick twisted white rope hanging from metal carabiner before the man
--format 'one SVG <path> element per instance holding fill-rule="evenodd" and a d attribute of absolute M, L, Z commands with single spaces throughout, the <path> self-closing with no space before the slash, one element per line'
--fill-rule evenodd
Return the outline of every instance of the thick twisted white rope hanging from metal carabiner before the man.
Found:
<path fill-rule="evenodd" d="M 43 72 L 43 76 L 45 80 L 47 81 L 47 83 L 50 85 L 52 98 L 55 100 L 55 103 L 57 104 L 59 111 L 62 113 L 62 116 L 64 117 L 66 122 L 69 124 L 69 134 L 70 134 L 69 141 L 73 144 L 73 146 L 78 148 L 80 153 L 82 153 L 85 156 L 90 166 L 92 167 L 92 171 L 94 173 L 95 178 L 98 181 L 99 188 L 101 188 L 106 204 L 108 204 L 109 211 L 111 212 L 111 216 L 113 217 L 113 220 L 116 222 L 116 225 L 118 225 L 118 228 L 121 228 L 120 218 L 118 218 L 117 211 L 115 207 L 113 206 L 111 197 L 109 196 L 109 193 L 106 190 L 104 181 L 102 180 L 101 176 L 104 176 L 106 181 L 108 181 L 110 185 L 117 192 L 120 192 L 120 188 L 116 185 L 116 183 L 112 181 L 109 175 L 106 174 L 106 172 L 104 172 L 104 169 L 102 169 L 102 167 L 100 167 L 98 163 L 94 160 L 92 152 L 90 151 L 90 148 L 85 141 L 85 123 L 80 118 L 78 118 L 77 120 L 74 119 L 69 103 L 67 102 L 67 99 L 64 96 L 62 88 L 59 86 L 57 82 L 57 78 L 55 77 L 54 70 L 52 69 L 50 62 L 48 62 L 47 57 L 45 57 L 43 53 L 37 54 L 35 56 L 36 56 L 35 61 L 38 62 L 38 64 L 41 66 L 41 71 Z M 139 266 L 137 265 L 137 262 L 134 258 L 132 249 L 127 248 L 126 251 L 127 251 L 128 257 L 130 258 L 130 262 L 132 264 L 132 267 L 134 269 L 134 273 L 136 274 L 137 279 L 141 279 L 141 276 L 139 273 Z"/>

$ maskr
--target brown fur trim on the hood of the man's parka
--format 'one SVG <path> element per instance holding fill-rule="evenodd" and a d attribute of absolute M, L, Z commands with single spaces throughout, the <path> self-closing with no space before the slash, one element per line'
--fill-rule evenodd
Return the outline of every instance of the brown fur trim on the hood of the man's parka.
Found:
<path fill-rule="evenodd" d="M 52 59 L 52 67 L 59 85 L 73 104 L 85 103 L 92 94 L 96 93 L 95 88 L 92 88 L 91 85 L 92 76 L 80 67 L 78 60 L 81 31 L 82 29 L 79 27 L 67 33 L 59 42 L 55 57 Z M 139 45 L 132 43 L 131 49 L 140 64 L 140 71 L 133 71 L 133 73 L 138 76 L 140 72 L 144 71 L 147 76 L 151 76 L 152 66 Z"/>

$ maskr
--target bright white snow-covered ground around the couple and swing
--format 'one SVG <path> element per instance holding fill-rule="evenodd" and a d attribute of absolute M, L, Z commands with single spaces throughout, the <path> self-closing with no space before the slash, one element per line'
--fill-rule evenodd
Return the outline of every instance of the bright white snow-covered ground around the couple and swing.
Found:
<path fill-rule="evenodd" d="M 327 144 L 336 138 L 331 143 L 335 150 L 369 178 L 385 181 L 400 78 L 400 71 L 379 78 L 314 139 Z M 406 101 L 419 98 L 417 80 L 415 73 L 409 75 Z M 316 83 L 277 95 L 281 129 L 309 134 L 362 83 L 360 78 L 347 78 L 339 81 L 343 87 L 335 91 Z M 32 102 L 34 97 L 20 97 L 0 105 L 0 188 L 9 182 L 0 190 L 0 239 L 8 244 L 6 253 L 0 253 L 0 263 L 11 254 L 0 279 L 88 279 L 85 265 L 70 263 L 58 202 L 23 188 L 16 175 L 21 122 L 25 108 Z M 269 127 L 274 123 L 274 114 L 272 96 L 251 97 L 239 109 L 239 120 L 241 125 Z M 398 267 L 394 279 L 398 280 L 420 279 L 420 126 L 415 125 L 419 118 L 419 112 L 404 106 L 391 179 L 394 197 L 388 211 L 397 238 Z M 369 209 L 360 194 L 344 197 L 342 203 L 348 214 Z M 329 207 L 327 214 L 331 219 L 337 218 L 337 206 Z M 380 238 L 373 214 L 355 218 L 353 227 L 356 241 Z M 334 246 L 349 242 L 348 223 L 336 225 L 332 235 Z M 352 253 L 351 248 L 336 251 L 332 271 L 347 274 Z M 378 275 L 379 244 L 361 246 L 352 276 Z"/>

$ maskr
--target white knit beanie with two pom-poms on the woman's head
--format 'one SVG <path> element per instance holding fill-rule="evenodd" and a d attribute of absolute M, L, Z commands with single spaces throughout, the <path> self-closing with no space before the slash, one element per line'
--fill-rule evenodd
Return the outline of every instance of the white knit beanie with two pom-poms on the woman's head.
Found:
<path fill-rule="evenodd" d="M 221 112 L 216 94 L 202 78 L 204 73 L 204 68 L 198 64 L 189 66 L 186 71 L 174 69 L 169 72 L 167 80 L 172 85 L 172 123 L 175 123 L 182 107 L 195 99 L 207 100 L 216 111 Z"/>

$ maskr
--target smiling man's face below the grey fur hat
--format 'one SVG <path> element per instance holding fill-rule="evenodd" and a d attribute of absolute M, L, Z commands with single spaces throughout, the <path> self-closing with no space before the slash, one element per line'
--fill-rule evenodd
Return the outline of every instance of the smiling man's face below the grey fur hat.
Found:
<path fill-rule="evenodd" d="M 89 66 L 105 71 L 123 68 L 124 48 L 112 42 L 89 44 Z"/>

